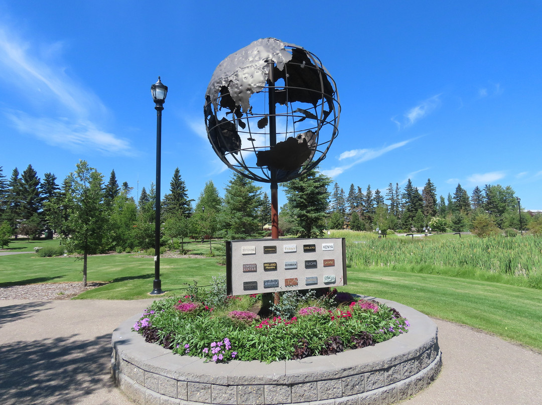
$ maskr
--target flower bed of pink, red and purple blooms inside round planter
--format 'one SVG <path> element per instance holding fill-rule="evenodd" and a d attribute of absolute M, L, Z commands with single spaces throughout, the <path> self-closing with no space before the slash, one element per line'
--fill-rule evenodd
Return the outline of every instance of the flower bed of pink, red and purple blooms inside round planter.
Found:
<path fill-rule="evenodd" d="M 336 291 L 288 292 L 269 309 L 261 295 L 217 299 L 194 292 L 155 301 L 133 330 L 146 342 L 183 356 L 270 363 L 363 348 L 401 335 L 409 326 L 385 304 L 344 293 L 338 302 Z"/>

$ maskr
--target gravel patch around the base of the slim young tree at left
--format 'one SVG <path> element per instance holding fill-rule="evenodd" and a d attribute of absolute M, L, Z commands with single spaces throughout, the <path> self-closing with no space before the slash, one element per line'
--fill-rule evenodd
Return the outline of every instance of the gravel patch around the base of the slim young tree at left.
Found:
<path fill-rule="evenodd" d="M 29 299 L 31 301 L 51 301 L 57 299 L 70 299 L 81 292 L 91 290 L 107 283 L 89 282 L 86 287 L 83 283 L 44 283 L 13 285 L 0 287 L 0 299 Z"/>

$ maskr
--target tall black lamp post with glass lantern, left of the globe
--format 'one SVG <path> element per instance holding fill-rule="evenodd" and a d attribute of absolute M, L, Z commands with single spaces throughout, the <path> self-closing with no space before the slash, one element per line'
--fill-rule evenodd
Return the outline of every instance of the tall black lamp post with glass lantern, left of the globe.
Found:
<path fill-rule="evenodd" d="M 162 148 L 162 110 L 166 101 L 167 86 L 158 76 L 158 81 L 151 86 L 152 99 L 156 106 L 156 213 L 154 215 L 154 282 L 151 295 L 163 294 L 160 280 L 160 149 Z"/>

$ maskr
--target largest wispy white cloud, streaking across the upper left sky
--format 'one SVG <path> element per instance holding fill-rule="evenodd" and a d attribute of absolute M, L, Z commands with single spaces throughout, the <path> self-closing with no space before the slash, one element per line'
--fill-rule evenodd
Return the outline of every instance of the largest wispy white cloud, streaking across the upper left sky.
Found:
<path fill-rule="evenodd" d="M 0 80 L 25 101 L 25 112 L 2 113 L 21 133 L 70 151 L 134 155 L 130 142 L 100 129 L 107 108 L 62 66 L 62 42 L 22 40 L 0 22 Z M 62 112 L 62 116 L 59 116 Z"/>

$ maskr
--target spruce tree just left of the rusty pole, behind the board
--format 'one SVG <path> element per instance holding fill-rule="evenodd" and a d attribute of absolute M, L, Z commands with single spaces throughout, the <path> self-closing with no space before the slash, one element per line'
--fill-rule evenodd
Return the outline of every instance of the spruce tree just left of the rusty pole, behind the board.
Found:
<path fill-rule="evenodd" d="M 228 239 L 247 239 L 260 229 L 258 209 L 261 187 L 239 173 L 234 173 L 225 187 L 221 212 L 222 230 Z M 207 210 L 207 208 L 205 208 Z"/>

